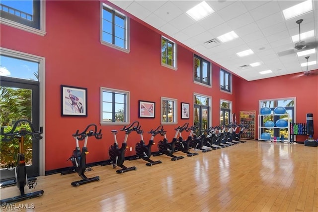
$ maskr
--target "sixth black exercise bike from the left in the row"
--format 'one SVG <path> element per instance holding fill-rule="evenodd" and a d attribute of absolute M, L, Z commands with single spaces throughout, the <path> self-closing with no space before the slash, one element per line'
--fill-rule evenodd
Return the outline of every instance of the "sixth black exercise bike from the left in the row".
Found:
<path fill-rule="evenodd" d="M 198 153 L 194 152 L 194 153 L 191 153 L 189 151 L 190 149 L 190 141 L 192 139 L 192 133 L 193 133 L 193 127 L 194 126 L 191 126 L 188 128 L 188 125 L 189 123 L 185 123 L 183 126 L 178 126 L 177 128 L 175 128 L 175 130 L 177 131 L 177 133 L 180 134 L 179 136 L 179 142 L 175 143 L 175 147 L 177 148 L 178 151 L 181 151 L 183 153 L 186 153 L 188 157 L 192 157 L 194 155 L 198 155 Z M 188 138 L 186 140 L 183 140 L 182 138 L 182 135 L 181 135 L 181 132 L 182 131 L 190 131 L 190 134 L 188 136 Z"/>

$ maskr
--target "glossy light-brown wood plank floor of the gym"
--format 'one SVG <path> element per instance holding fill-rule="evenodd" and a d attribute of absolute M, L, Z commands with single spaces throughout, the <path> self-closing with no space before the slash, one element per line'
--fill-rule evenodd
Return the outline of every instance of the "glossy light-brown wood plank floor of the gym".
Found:
<path fill-rule="evenodd" d="M 20 203 L 36 212 L 318 212 L 317 147 L 249 140 L 179 161 L 152 159 L 162 164 L 125 161 L 138 169 L 124 174 L 92 167 L 86 176 L 100 181 L 79 187 L 71 186 L 77 174 L 41 176 L 35 191 L 44 195 Z M 0 192 L 1 199 L 19 195 L 16 187 Z"/>

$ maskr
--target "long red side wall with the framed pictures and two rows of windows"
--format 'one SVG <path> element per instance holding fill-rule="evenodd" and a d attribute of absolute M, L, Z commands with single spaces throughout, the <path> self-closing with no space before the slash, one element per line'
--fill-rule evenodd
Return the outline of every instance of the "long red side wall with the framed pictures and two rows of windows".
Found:
<path fill-rule="evenodd" d="M 213 125 L 219 123 L 220 99 L 233 101 L 233 108 L 237 108 L 237 89 L 233 95 L 220 92 L 218 65 L 213 64 L 212 88 L 193 83 L 193 52 L 182 45 L 177 49 L 177 71 L 161 66 L 160 33 L 140 20 L 130 20 L 129 54 L 100 44 L 99 34 L 99 1 L 46 1 L 45 36 L 1 24 L 1 47 L 46 58 L 46 171 L 71 166 L 66 159 L 75 147 L 72 134 L 90 123 L 102 129 L 103 138 L 88 140 L 87 162 L 109 159 L 108 147 L 114 142 L 110 130 L 123 126 L 100 126 L 100 87 L 130 91 L 130 121 L 140 121 L 146 132 L 160 124 L 161 97 L 177 99 L 178 114 L 181 102 L 190 103 L 190 119 L 181 120 L 178 115 L 178 125 L 193 123 L 194 92 L 212 96 Z M 233 78 L 234 88 L 237 82 L 245 82 Z M 87 88 L 87 117 L 61 116 L 61 85 Z M 156 118 L 139 119 L 138 100 L 156 102 Z M 168 138 L 174 135 L 175 127 L 164 126 Z M 118 141 L 123 139 L 123 134 L 118 133 Z M 150 138 L 147 133 L 144 137 Z M 139 136 L 132 134 L 128 145 L 134 146 L 138 141 Z M 134 154 L 134 151 L 127 152 L 127 155 Z"/>

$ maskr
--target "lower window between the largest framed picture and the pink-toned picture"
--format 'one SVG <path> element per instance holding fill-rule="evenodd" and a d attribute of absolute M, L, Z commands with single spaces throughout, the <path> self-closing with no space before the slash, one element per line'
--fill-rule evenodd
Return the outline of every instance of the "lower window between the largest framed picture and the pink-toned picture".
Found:
<path fill-rule="evenodd" d="M 129 122 L 129 92 L 101 88 L 101 124 Z"/>

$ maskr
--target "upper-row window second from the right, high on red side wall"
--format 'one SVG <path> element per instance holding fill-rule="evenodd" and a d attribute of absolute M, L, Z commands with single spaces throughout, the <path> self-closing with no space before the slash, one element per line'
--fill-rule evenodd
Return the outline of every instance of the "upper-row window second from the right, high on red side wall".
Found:
<path fill-rule="evenodd" d="M 210 62 L 197 55 L 194 55 L 194 81 L 211 85 Z"/>

